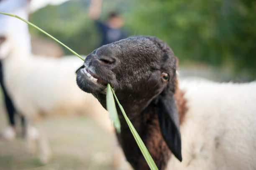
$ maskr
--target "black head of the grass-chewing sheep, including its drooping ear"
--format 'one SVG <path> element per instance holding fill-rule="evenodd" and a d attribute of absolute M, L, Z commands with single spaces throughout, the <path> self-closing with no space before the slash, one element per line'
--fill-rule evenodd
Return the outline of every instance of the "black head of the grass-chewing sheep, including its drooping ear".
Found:
<path fill-rule="evenodd" d="M 162 136 L 172 153 L 182 160 L 179 115 L 173 97 L 176 63 L 177 58 L 163 41 L 133 36 L 90 53 L 77 70 L 77 84 L 106 108 L 109 83 L 131 120 L 149 104 L 155 104 Z"/>

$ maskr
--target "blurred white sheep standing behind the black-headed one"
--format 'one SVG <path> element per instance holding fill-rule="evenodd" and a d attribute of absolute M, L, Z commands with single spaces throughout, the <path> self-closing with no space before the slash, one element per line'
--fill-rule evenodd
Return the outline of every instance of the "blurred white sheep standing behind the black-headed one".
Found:
<path fill-rule="evenodd" d="M 42 163 L 48 163 L 51 156 L 46 134 L 41 127 L 43 117 L 86 113 L 109 134 L 113 134 L 107 111 L 91 94 L 84 94 L 77 87 L 75 71 L 82 60 L 74 56 L 34 56 L 20 48 L 10 35 L 0 38 L 0 56 L 3 58 L 6 89 L 18 112 L 30 122 L 26 135 L 28 149 L 35 152 L 35 142 L 39 140 Z M 39 132 L 30 124 L 35 125 Z"/>

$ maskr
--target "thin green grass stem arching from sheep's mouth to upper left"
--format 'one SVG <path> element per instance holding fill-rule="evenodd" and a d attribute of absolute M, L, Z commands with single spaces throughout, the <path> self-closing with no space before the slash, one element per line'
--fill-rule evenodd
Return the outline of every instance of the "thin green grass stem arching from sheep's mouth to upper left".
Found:
<path fill-rule="evenodd" d="M 15 18 L 18 18 L 22 21 L 24 21 L 25 23 L 33 26 L 34 28 L 40 30 L 42 33 L 46 34 L 47 36 L 51 37 L 52 39 L 54 39 L 55 41 L 57 41 L 58 43 L 60 43 L 62 46 L 66 47 L 69 51 L 71 51 L 74 55 L 78 56 L 79 58 L 81 58 L 83 61 L 84 61 L 84 58 L 82 58 L 81 56 L 79 56 L 78 53 L 74 52 L 71 48 L 69 48 L 68 46 L 66 46 L 64 43 L 61 43 L 61 41 L 59 41 L 58 39 L 54 38 L 54 36 L 51 36 L 49 33 L 45 32 L 44 30 L 42 30 L 41 28 L 39 28 L 38 26 L 34 25 L 33 23 L 23 19 L 23 18 L 20 18 L 19 16 L 17 15 L 13 15 L 13 14 L 10 14 L 10 13 L 3 13 L 3 12 L 0 12 L 1 14 L 4 14 L 4 15 L 9 15 L 11 17 L 15 17 Z"/>

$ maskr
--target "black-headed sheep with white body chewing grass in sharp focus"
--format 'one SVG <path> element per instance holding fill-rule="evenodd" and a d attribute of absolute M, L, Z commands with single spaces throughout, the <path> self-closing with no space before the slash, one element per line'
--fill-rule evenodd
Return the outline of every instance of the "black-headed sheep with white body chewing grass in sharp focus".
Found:
<path fill-rule="evenodd" d="M 255 170 L 256 81 L 178 82 L 176 71 L 166 43 L 132 36 L 90 53 L 77 85 L 104 108 L 106 84 L 113 87 L 159 170 Z M 149 169 L 119 108 L 118 117 L 126 159 L 136 170 Z"/>

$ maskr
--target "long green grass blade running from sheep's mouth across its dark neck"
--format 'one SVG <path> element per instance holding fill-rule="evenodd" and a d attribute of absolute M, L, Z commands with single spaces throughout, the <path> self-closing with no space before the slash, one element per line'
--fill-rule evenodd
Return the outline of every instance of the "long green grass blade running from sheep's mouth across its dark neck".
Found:
<path fill-rule="evenodd" d="M 109 84 L 108 84 L 108 85 L 109 85 Z M 110 85 L 109 85 L 109 86 L 110 86 Z M 150 156 L 150 154 L 149 154 L 149 152 L 148 152 L 146 146 L 145 146 L 144 143 L 142 142 L 141 137 L 138 135 L 136 129 L 133 127 L 133 124 L 131 123 L 131 121 L 129 120 L 129 118 L 127 117 L 127 115 L 125 114 L 125 111 L 124 111 L 123 107 L 122 107 L 121 104 L 119 103 L 118 98 L 117 98 L 116 95 L 115 95 L 115 91 L 112 89 L 111 86 L 110 86 L 110 88 L 111 88 L 111 91 L 112 91 L 113 95 L 115 96 L 115 100 L 117 101 L 118 106 L 120 107 L 121 112 L 123 113 L 123 116 L 124 116 L 124 118 L 125 118 L 125 120 L 126 120 L 128 126 L 129 126 L 129 128 L 130 128 L 130 130 L 131 130 L 131 132 L 132 132 L 132 134 L 133 134 L 133 137 L 134 137 L 134 139 L 135 139 L 136 142 L 137 142 L 138 147 L 140 148 L 140 150 L 141 150 L 143 156 L 144 156 L 145 159 L 146 159 L 146 162 L 148 163 L 148 166 L 150 167 L 151 170 L 158 170 L 158 168 L 156 167 L 156 164 L 155 164 L 154 160 L 152 159 L 152 157 Z M 115 103 L 114 103 L 114 104 L 115 104 Z"/>

